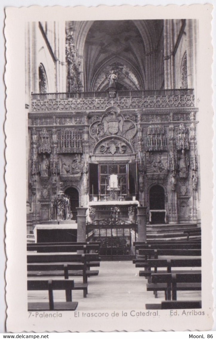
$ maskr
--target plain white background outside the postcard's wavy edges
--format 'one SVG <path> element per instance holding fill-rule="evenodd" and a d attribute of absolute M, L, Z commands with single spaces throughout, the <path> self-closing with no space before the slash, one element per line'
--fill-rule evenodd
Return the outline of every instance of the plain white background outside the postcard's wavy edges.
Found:
<path fill-rule="evenodd" d="M 211 3 L 213 5 L 216 5 L 214 0 L 206 1 L 208 3 Z M 5 231 L 4 231 L 4 225 L 5 225 L 5 206 L 4 206 L 4 199 L 5 199 L 5 184 L 4 184 L 4 171 L 5 171 L 5 160 L 4 160 L 4 148 L 5 148 L 5 135 L 4 135 L 4 120 L 5 120 L 5 106 L 4 106 L 4 100 L 5 100 L 5 85 L 4 85 L 4 67 L 5 67 L 5 40 L 3 35 L 4 30 L 4 19 L 5 19 L 5 13 L 4 8 L 6 6 L 30 6 L 30 5 L 41 5 L 41 6 L 53 6 L 53 5 L 62 5 L 62 6 L 76 6 L 76 5 L 86 5 L 86 6 L 97 6 L 97 5 L 123 5 L 123 4 L 130 4 L 130 5 L 167 5 L 167 4 L 205 4 L 205 1 L 200 0 L 1 0 L 0 3 L 0 25 L 1 25 L 1 34 L 0 34 L 0 333 L 5 333 L 5 319 L 6 319 L 6 304 L 5 304 L 5 279 L 4 279 L 4 272 L 5 272 L 5 265 L 6 265 L 6 257 L 5 257 L 5 248 L 4 248 L 4 237 L 5 237 Z M 216 9 L 213 10 L 213 22 L 212 22 L 212 35 L 213 35 L 213 43 L 214 48 L 216 49 Z M 214 51 L 214 57 L 216 59 L 216 52 Z M 213 65 L 213 87 L 214 92 L 216 88 L 216 62 L 214 62 Z M 214 93 L 214 108 L 216 107 L 216 96 Z M 214 119 L 214 129 L 216 131 L 216 122 Z M 216 138 L 214 137 L 214 146 L 216 144 Z M 215 147 L 214 147 L 215 148 Z M 215 151 L 214 151 L 215 153 Z M 215 154 L 214 154 L 215 158 Z M 214 159 L 215 160 L 215 159 Z M 214 173 L 216 171 L 216 168 L 214 167 Z M 215 191 L 216 192 L 216 191 Z M 215 193 L 214 192 L 214 193 Z M 215 194 L 214 194 L 215 196 Z M 215 221 L 215 199 L 214 199 L 214 221 Z M 213 223 L 215 224 L 215 222 Z M 216 231 L 214 230 L 214 238 L 216 237 Z M 214 241 L 214 253 L 216 248 L 216 241 Z M 214 262 L 214 276 L 216 272 L 216 265 Z M 214 281 L 215 286 L 215 281 Z M 214 289 L 215 290 L 215 289 Z M 214 292 L 214 298 L 216 300 L 216 292 Z M 214 309 L 216 302 L 214 301 Z M 214 319 L 215 319 L 215 325 L 213 327 L 213 331 L 216 331 L 216 311 L 214 312 Z M 84 335 L 84 334 L 83 334 Z M 131 334 L 135 335 L 135 334 Z M 146 336 L 146 334 L 143 334 Z M 215 333 L 213 333 L 213 338 L 215 337 Z M 122 338 L 122 335 L 118 335 Z M 126 336 L 126 334 L 125 334 Z M 136 336 L 136 335 L 135 335 Z M 71 337 L 71 336 L 70 336 Z M 158 335 L 159 337 L 159 335 Z M 161 337 L 161 335 L 160 335 Z M 173 337 L 173 333 L 172 333 Z M 178 338 L 189 338 L 189 335 L 186 333 L 178 334 Z M 60 336 L 58 337 L 60 338 Z M 101 338 L 101 336 L 100 336 Z M 155 338 L 155 337 L 154 337 Z M 205 338 L 207 338 L 207 335 L 205 335 Z"/>

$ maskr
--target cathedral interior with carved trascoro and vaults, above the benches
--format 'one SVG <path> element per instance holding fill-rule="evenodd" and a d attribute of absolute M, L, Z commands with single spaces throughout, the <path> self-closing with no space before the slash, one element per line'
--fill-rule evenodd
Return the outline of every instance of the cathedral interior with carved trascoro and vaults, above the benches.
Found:
<path fill-rule="evenodd" d="M 96 221 L 136 224 L 137 207 L 148 227 L 200 225 L 197 25 L 26 24 L 28 234 L 74 240 L 79 208 L 95 239 L 109 237 Z"/>

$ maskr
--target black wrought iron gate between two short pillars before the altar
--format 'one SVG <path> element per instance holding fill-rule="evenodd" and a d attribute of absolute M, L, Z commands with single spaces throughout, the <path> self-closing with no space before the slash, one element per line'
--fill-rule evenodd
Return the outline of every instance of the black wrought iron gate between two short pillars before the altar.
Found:
<path fill-rule="evenodd" d="M 137 239 L 137 223 L 118 218 L 117 207 L 111 208 L 110 217 L 94 220 L 86 226 L 87 241 L 100 242 L 102 260 L 131 260 L 135 257 L 131 247 Z"/>

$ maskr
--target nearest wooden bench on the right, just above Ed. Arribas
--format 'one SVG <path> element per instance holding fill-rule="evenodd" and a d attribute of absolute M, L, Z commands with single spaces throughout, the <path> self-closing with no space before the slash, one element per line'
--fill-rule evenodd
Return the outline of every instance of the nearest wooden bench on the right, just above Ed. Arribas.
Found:
<path fill-rule="evenodd" d="M 165 300 L 161 304 L 146 304 L 146 310 L 178 310 L 202 308 L 201 300 Z"/>

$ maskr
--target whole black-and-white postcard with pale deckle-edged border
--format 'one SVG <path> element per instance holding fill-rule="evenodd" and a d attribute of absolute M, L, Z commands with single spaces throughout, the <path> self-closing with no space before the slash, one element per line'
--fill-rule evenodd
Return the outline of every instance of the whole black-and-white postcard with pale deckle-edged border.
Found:
<path fill-rule="evenodd" d="M 212 154 L 203 143 L 211 145 L 213 131 L 210 78 L 200 91 L 202 10 L 211 23 L 208 5 L 198 7 L 197 17 L 183 9 L 176 17 L 174 8 L 147 17 L 143 7 L 138 18 L 103 7 L 89 19 L 75 9 L 64 16 L 56 7 L 59 19 L 48 15 L 54 7 L 23 9 L 15 133 L 25 177 L 18 286 L 28 320 L 9 317 L 9 328 L 211 328 Z"/>

